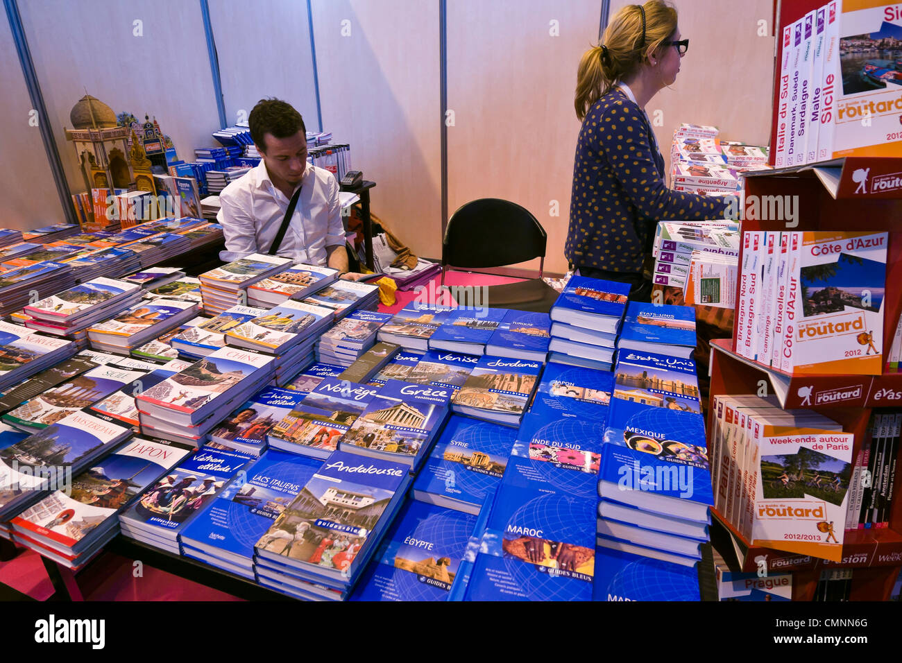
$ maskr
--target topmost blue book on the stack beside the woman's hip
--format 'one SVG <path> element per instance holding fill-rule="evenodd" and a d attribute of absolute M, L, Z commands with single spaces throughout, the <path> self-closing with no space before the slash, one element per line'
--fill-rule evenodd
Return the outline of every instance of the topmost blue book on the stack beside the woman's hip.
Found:
<path fill-rule="evenodd" d="M 551 319 L 575 327 L 616 332 L 629 294 L 629 283 L 572 276 L 551 307 Z"/>

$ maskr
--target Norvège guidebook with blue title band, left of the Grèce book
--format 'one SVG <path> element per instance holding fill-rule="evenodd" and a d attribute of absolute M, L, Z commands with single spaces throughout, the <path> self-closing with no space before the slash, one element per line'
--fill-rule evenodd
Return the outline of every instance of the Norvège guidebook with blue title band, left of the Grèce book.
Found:
<path fill-rule="evenodd" d="M 326 378 L 272 428 L 270 447 L 326 458 L 378 392 L 378 387 Z"/>

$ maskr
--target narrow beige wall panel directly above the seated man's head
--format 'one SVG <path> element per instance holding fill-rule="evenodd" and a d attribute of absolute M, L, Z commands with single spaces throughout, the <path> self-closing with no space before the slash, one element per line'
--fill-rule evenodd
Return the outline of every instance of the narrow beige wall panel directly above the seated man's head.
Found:
<path fill-rule="evenodd" d="M 209 0 L 209 7 L 226 122 L 246 121 L 260 99 L 278 97 L 298 109 L 309 131 L 318 130 L 307 3 Z"/>

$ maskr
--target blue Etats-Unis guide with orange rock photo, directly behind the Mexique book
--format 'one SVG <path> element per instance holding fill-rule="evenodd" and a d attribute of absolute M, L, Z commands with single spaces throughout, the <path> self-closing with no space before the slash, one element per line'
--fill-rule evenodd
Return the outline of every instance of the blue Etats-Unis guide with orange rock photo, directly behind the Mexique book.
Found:
<path fill-rule="evenodd" d="M 626 424 L 642 410 L 702 411 L 695 362 L 683 357 L 621 351 L 614 367 L 612 396 L 604 439 L 616 444 L 622 444 Z"/>

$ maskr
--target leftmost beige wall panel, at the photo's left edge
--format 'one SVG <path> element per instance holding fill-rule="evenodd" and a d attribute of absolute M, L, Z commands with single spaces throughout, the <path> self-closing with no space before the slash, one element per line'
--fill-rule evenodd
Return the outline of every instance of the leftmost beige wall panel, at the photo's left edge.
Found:
<path fill-rule="evenodd" d="M 0 226 L 17 230 L 66 221 L 6 17 L 0 18 Z"/>

